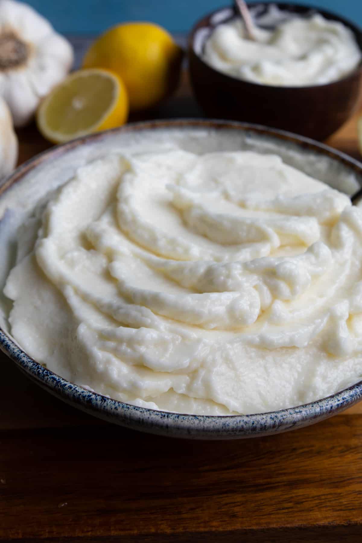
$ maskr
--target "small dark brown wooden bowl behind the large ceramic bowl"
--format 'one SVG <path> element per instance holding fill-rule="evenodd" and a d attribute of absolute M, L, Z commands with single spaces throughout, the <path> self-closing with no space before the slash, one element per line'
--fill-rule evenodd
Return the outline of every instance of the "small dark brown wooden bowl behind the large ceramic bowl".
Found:
<path fill-rule="evenodd" d="M 251 4 L 262 14 L 268 3 Z M 281 10 L 297 15 L 319 12 L 350 28 L 362 49 L 362 31 L 349 21 L 327 11 L 277 2 Z M 188 55 L 192 87 L 201 108 L 214 118 L 264 124 L 325 140 L 357 109 L 361 96 L 362 62 L 343 79 L 326 85 L 281 87 L 250 83 L 221 73 L 204 62 L 202 48 L 220 23 L 237 14 L 235 7 L 221 8 L 195 24 L 189 35 Z M 257 17 L 256 17 L 257 20 Z"/>

